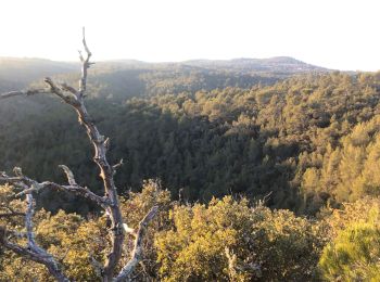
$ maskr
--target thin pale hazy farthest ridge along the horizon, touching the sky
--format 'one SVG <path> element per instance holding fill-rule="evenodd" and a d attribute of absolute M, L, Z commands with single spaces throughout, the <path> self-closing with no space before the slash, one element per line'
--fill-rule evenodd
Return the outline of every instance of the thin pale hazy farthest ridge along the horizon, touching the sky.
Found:
<path fill-rule="evenodd" d="M 149 63 L 138 60 L 111 60 L 97 62 L 96 73 L 117 69 L 214 69 L 238 73 L 274 73 L 292 75 L 305 72 L 329 72 L 330 69 L 311 65 L 289 56 L 269 59 L 232 59 L 232 60 L 191 60 L 183 62 Z M 0 79 L 8 81 L 26 81 L 78 72 L 78 63 L 58 62 L 35 57 L 0 57 Z"/>

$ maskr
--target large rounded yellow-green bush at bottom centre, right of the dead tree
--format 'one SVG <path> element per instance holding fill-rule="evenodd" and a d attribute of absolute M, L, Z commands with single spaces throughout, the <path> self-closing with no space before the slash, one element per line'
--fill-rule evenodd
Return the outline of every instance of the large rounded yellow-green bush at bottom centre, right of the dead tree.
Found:
<path fill-rule="evenodd" d="M 320 226 L 230 196 L 170 218 L 155 243 L 163 281 L 307 281 L 324 245 Z"/>

